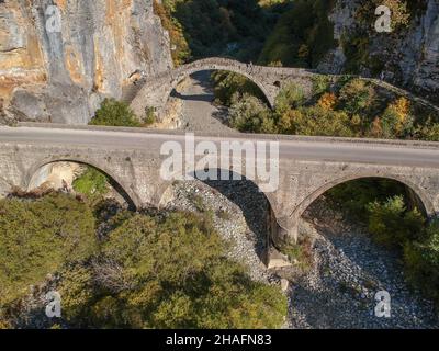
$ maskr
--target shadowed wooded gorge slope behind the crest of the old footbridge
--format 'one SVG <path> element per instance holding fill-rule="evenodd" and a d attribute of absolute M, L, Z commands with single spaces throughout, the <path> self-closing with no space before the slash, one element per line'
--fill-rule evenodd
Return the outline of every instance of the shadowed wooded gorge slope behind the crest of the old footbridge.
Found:
<path fill-rule="evenodd" d="M 176 65 L 210 56 L 257 60 L 284 0 L 164 0 L 155 12 L 170 33 Z"/>

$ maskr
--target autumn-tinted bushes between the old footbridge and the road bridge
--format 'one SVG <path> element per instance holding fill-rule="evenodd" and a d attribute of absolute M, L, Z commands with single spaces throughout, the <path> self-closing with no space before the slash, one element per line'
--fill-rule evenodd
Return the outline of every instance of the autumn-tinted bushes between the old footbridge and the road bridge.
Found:
<path fill-rule="evenodd" d="M 279 93 L 274 111 L 244 83 L 233 82 L 219 82 L 217 100 L 229 105 L 230 126 L 240 132 L 439 140 L 434 113 L 406 98 L 384 98 L 365 80 L 347 76 L 330 82 L 320 76 L 311 98 L 290 83 Z"/>

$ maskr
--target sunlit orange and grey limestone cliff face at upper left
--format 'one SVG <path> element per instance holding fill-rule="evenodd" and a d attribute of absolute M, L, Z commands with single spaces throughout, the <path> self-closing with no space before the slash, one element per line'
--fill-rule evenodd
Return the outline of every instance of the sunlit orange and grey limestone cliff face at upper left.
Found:
<path fill-rule="evenodd" d="M 86 124 L 133 72 L 170 68 L 153 0 L 0 1 L 0 123 Z"/>

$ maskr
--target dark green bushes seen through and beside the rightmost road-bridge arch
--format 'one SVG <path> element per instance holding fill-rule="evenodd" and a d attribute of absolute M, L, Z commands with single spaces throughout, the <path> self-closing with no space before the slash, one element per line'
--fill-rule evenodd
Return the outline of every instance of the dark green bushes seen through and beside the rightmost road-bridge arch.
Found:
<path fill-rule="evenodd" d="M 398 250 L 408 281 L 439 303 L 439 220 L 427 223 L 403 184 L 356 180 L 334 188 L 328 196 L 367 225 L 376 242 Z"/>

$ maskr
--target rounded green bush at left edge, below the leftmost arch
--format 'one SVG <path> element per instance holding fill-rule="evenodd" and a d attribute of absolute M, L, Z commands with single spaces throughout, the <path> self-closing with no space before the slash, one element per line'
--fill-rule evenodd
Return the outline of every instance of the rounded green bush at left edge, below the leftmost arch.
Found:
<path fill-rule="evenodd" d="M 92 212 L 69 195 L 0 200 L 0 306 L 97 249 Z"/>

